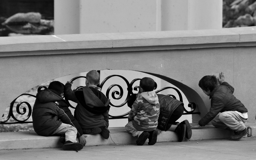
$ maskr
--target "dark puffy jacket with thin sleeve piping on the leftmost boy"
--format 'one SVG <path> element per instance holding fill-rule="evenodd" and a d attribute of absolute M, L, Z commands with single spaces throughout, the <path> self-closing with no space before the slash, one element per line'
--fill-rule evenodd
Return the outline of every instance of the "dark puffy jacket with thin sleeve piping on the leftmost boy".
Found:
<path fill-rule="evenodd" d="M 33 128 L 38 135 L 51 135 L 61 123 L 75 126 L 77 137 L 83 134 L 82 128 L 68 109 L 66 101 L 50 89 L 40 90 L 36 94 L 32 119 Z"/>

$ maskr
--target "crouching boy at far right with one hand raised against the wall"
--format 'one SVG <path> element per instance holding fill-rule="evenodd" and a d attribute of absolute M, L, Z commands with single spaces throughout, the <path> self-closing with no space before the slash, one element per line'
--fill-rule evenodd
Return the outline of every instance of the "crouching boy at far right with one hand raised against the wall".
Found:
<path fill-rule="evenodd" d="M 211 108 L 199 120 L 198 125 L 193 127 L 205 126 L 212 121 L 215 127 L 234 131 L 235 134 L 230 137 L 231 141 L 241 140 L 248 133 L 244 125 L 248 118 L 248 110 L 233 95 L 234 88 L 225 82 L 224 73 L 220 73 L 218 80 L 214 75 L 204 76 L 198 85 L 204 94 L 210 96 Z"/>

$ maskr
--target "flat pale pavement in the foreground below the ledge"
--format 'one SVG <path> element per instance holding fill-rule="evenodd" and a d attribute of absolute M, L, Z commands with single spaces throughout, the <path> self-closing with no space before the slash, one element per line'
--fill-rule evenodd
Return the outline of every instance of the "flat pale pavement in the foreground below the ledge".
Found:
<path fill-rule="evenodd" d="M 214 139 L 157 142 L 155 145 L 85 146 L 80 151 L 62 148 L 0 150 L 0 160 L 256 160 L 256 137 L 240 141 Z"/>

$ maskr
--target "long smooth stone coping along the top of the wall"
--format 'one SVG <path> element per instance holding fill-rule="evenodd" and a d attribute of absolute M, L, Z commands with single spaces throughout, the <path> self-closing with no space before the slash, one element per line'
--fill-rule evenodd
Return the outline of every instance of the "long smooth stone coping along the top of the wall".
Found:
<path fill-rule="evenodd" d="M 168 49 L 205 48 L 209 45 L 211 47 L 254 46 L 255 41 L 255 26 L 184 31 L 29 35 L 0 37 L 0 56 L 13 56 L 12 52 L 17 51 L 89 50 L 88 52 L 92 52 L 90 49 L 98 49 L 99 52 L 109 52 L 110 50 L 99 49 L 115 51 L 113 49 L 127 47 L 150 47 L 153 50 L 158 46 L 164 50 L 166 46 L 169 46 Z"/>

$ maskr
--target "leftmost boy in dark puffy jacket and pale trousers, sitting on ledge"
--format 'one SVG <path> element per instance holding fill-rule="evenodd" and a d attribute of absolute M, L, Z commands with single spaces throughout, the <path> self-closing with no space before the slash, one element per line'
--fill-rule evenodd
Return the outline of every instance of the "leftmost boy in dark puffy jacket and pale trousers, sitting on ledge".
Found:
<path fill-rule="evenodd" d="M 65 134 L 63 150 L 81 150 L 86 141 L 67 102 L 61 97 L 64 87 L 61 82 L 53 81 L 48 89 L 38 91 L 32 110 L 33 128 L 42 136 Z M 76 141 L 76 137 L 81 143 Z"/>

